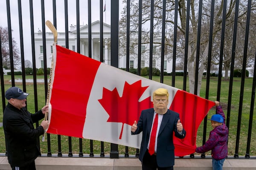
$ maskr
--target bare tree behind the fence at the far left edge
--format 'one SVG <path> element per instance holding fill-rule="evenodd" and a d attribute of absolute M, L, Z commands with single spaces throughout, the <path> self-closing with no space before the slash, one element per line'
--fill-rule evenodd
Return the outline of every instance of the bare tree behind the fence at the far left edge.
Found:
<path fill-rule="evenodd" d="M 0 26 L 0 35 L 1 35 L 3 67 L 6 69 L 10 69 L 11 66 L 10 66 L 8 29 Z M 12 52 L 13 52 L 14 67 L 17 68 L 20 66 L 20 56 L 19 56 L 19 49 L 17 47 L 17 43 L 14 39 L 12 39 Z"/>

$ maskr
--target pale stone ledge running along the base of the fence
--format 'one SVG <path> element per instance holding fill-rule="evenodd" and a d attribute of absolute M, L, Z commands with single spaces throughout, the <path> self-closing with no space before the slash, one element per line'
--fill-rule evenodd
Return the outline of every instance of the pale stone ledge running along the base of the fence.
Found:
<path fill-rule="evenodd" d="M 138 158 L 110 159 L 98 157 L 38 157 L 35 160 L 37 170 L 141 170 Z M 196 157 L 176 158 L 175 170 L 212 170 L 212 159 Z M 0 170 L 11 170 L 6 156 L 0 156 Z M 226 159 L 223 170 L 256 170 L 256 157 L 250 159 Z"/>

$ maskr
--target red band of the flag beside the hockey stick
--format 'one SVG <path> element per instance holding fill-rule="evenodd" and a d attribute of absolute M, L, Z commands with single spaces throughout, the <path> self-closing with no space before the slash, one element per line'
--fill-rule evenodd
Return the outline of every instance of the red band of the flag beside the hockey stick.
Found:
<path fill-rule="evenodd" d="M 50 98 L 54 114 L 51 114 L 47 132 L 81 137 L 90 89 L 100 62 L 61 46 L 55 46 L 58 57 L 53 69 Z M 86 78 L 82 75 L 86 75 Z"/>

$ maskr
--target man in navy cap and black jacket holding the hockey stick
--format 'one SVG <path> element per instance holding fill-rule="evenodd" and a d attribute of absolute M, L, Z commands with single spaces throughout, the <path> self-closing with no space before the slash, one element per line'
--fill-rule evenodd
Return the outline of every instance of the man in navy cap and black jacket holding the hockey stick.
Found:
<path fill-rule="evenodd" d="M 3 130 L 6 138 L 6 152 L 12 170 L 35 170 L 35 159 L 41 155 L 38 136 L 48 128 L 48 121 L 34 127 L 33 123 L 44 118 L 48 105 L 35 114 L 26 109 L 29 94 L 20 88 L 11 87 L 6 91 L 8 104 L 3 112 Z"/>

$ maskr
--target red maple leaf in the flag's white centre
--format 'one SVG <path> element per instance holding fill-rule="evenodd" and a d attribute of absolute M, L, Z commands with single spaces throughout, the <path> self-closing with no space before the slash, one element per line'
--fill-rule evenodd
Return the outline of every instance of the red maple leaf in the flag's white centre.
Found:
<path fill-rule="evenodd" d="M 122 139 L 125 123 L 132 126 L 135 120 L 139 120 L 142 110 L 153 107 L 150 96 L 139 102 L 147 88 L 148 86 L 141 86 L 141 80 L 131 85 L 125 82 L 122 96 L 119 96 L 116 88 L 113 91 L 103 88 L 102 99 L 98 101 L 109 115 L 107 122 L 122 123 L 119 139 Z"/>

